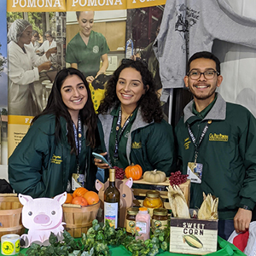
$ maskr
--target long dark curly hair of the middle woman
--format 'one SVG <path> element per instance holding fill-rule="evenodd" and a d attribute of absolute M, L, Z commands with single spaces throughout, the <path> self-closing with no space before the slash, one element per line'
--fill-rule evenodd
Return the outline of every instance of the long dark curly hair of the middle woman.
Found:
<path fill-rule="evenodd" d="M 143 120 L 147 123 L 151 123 L 153 120 L 156 123 L 160 123 L 161 119 L 163 119 L 163 113 L 160 107 L 159 96 L 155 90 L 152 73 L 148 70 L 147 64 L 144 61 L 122 60 L 121 65 L 113 73 L 113 77 L 108 80 L 105 97 L 98 108 L 98 113 L 105 114 L 108 113 L 110 108 L 117 108 L 119 106 L 120 101 L 116 95 L 116 84 L 119 79 L 119 74 L 127 67 L 136 69 L 143 79 L 143 86 L 144 89 L 146 89 L 146 93 L 138 102 L 142 111 Z"/>

